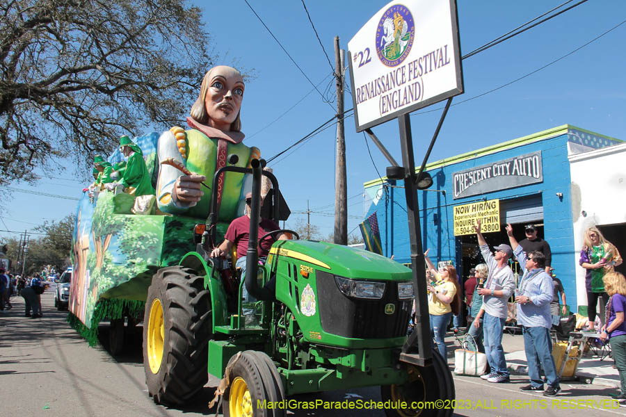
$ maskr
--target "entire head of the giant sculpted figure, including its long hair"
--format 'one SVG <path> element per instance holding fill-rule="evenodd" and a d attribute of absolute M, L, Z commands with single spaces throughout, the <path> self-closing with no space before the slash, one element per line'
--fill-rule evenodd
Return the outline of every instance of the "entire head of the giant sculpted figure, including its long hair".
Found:
<path fill-rule="evenodd" d="M 241 101 L 246 85 L 239 71 L 219 65 L 202 79 L 200 95 L 191 106 L 191 117 L 220 131 L 241 131 Z"/>

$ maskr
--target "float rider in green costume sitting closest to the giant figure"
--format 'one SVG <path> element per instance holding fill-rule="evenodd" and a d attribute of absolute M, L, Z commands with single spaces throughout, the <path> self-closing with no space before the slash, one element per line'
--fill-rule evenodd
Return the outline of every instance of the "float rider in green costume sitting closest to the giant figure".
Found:
<path fill-rule="evenodd" d="M 128 158 L 126 170 L 119 182 L 124 187 L 124 192 L 135 197 L 154 195 L 154 188 L 150 182 L 150 174 L 147 172 L 141 148 L 135 145 L 128 136 L 122 136 L 120 138 L 120 151 Z M 106 188 L 113 189 L 118 184 L 111 183 L 110 185 L 111 187 L 106 186 Z"/>

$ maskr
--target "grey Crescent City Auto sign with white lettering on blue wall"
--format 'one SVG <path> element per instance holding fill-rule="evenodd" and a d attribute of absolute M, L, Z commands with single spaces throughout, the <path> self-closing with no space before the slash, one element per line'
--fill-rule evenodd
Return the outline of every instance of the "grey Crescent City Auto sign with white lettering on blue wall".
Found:
<path fill-rule="evenodd" d="M 543 181 L 541 151 L 452 174 L 453 198 L 470 197 Z"/>

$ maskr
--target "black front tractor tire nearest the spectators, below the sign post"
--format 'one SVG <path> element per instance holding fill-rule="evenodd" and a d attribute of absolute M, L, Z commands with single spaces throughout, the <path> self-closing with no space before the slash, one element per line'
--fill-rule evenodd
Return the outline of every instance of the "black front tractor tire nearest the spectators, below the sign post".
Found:
<path fill-rule="evenodd" d="M 385 409 L 388 417 L 449 417 L 454 413 L 452 400 L 455 398 L 454 380 L 445 359 L 437 350 L 433 350 L 431 366 L 407 365 L 409 381 L 402 385 L 383 385 L 380 396 L 383 402 L 404 401 L 408 409 Z M 446 408 L 424 407 L 410 409 L 411 402 L 435 402 Z"/>

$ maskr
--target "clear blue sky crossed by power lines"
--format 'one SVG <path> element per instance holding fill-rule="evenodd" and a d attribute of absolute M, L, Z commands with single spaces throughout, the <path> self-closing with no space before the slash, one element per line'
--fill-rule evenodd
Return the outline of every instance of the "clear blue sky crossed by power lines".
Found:
<path fill-rule="evenodd" d="M 458 1 L 461 54 L 467 54 L 563 1 Z M 234 0 L 214 7 L 197 1 L 204 9 L 211 47 L 221 58 L 218 63 L 239 67 L 253 75 L 246 83 L 242 130 L 246 134 L 246 143 L 259 147 L 262 156 L 270 158 L 335 115 L 335 83 L 301 1 L 248 2 L 307 77 L 319 84 L 318 89 L 327 92 L 326 97 L 332 100 L 330 105 L 323 101 L 245 1 Z M 386 2 L 305 0 L 305 4 L 334 66 L 335 35 L 339 36 L 342 49 L 347 49 L 348 41 Z M 625 19 L 626 2 L 590 0 L 463 60 L 465 93 L 454 99 L 430 161 L 561 124 L 573 124 L 626 140 L 626 56 L 623 54 L 626 24 L 521 81 L 460 103 L 538 70 Z M 195 97 L 189 97 L 189 106 L 194 100 Z M 347 90 L 345 100 L 346 109 L 351 108 L 352 97 Z M 442 104 L 417 111 L 411 117 L 416 161 L 422 161 L 424 157 L 440 117 L 440 110 L 433 111 L 438 108 L 442 108 Z M 278 117 L 280 119 L 275 121 Z M 373 130 L 400 161 L 397 122 L 387 122 Z M 345 131 L 348 232 L 358 234 L 356 227 L 362 221 L 364 211 L 363 183 L 378 177 L 376 168 L 384 175 L 389 163 L 370 142 L 372 163 L 363 134 L 355 133 L 353 117 L 346 119 Z M 312 223 L 324 235 L 332 232 L 335 127 L 307 140 L 288 156 L 277 158 L 270 166 L 280 181 L 291 211 L 304 211 L 308 200 L 314 211 Z M 76 181 L 72 168 L 53 179 L 42 179 L 34 187 L 20 183 L 11 186 L 79 197 L 83 183 Z M 13 193 L 10 205 L 2 215 L 0 229 L 33 229 L 45 219 L 56 220 L 74 212 L 76 204 L 67 199 Z M 306 216 L 292 214 L 287 226 L 293 226 L 298 218 L 305 220 Z M 0 238 L 8 236 L 17 235 L 0 232 Z"/>

